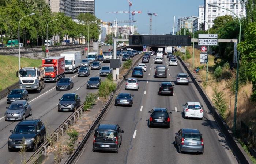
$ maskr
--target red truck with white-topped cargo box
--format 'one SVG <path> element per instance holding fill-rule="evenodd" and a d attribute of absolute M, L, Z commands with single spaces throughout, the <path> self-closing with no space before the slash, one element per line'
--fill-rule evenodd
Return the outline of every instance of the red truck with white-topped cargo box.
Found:
<path fill-rule="evenodd" d="M 42 66 L 45 68 L 44 81 L 57 82 L 65 75 L 65 57 L 55 56 L 42 59 Z"/>

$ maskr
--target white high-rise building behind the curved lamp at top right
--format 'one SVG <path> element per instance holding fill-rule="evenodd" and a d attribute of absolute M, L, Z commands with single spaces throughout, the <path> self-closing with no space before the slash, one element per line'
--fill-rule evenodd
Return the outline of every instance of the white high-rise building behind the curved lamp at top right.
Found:
<path fill-rule="evenodd" d="M 231 15 L 235 17 L 235 15 L 225 9 L 211 7 L 207 3 L 213 3 L 219 7 L 227 8 L 236 13 L 238 17 L 246 16 L 245 5 L 241 4 L 240 0 L 204 0 L 204 20 L 208 22 L 210 27 L 214 25 L 213 21 L 218 16 Z M 204 29 L 208 30 L 206 23 L 204 23 Z"/>

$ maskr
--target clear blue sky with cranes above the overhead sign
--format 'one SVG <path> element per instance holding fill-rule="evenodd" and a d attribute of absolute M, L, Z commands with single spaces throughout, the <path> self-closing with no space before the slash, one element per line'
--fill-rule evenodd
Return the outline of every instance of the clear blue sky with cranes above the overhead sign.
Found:
<path fill-rule="evenodd" d="M 204 5 L 204 0 L 130 0 L 132 11 L 142 11 L 135 14 L 134 25 L 138 26 L 140 34 L 149 34 L 150 18 L 147 11 L 157 13 L 152 17 L 153 34 L 170 34 L 173 31 L 173 20 L 179 17 L 198 16 L 199 5 Z M 118 20 L 129 20 L 128 13 L 106 13 L 109 11 L 129 11 L 128 0 L 95 0 L 95 16 L 104 22 Z M 118 24 L 123 26 L 125 24 Z M 128 23 L 127 23 L 128 25 Z M 177 31 L 177 23 L 175 23 Z"/>

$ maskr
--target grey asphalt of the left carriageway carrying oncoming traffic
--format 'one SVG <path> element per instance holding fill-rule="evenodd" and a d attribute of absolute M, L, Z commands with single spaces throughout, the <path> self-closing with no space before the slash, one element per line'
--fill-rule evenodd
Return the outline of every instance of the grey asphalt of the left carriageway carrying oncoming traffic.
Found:
<path fill-rule="evenodd" d="M 108 50 L 108 46 L 104 47 L 103 50 Z M 85 55 L 82 56 L 85 58 Z M 139 58 L 139 55 L 135 56 L 134 59 Z M 110 63 L 101 63 L 102 66 L 109 66 Z M 87 93 L 97 92 L 98 90 L 87 90 L 86 81 L 93 76 L 99 76 L 99 70 L 91 70 L 89 77 L 77 77 L 77 73 L 66 74 L 66 77 L 71 77 L 74 82 L 74 88 L 67 91 L 56 91 L 56 83 L 46 83 L 45 88 L 41 93 L 37 94 L 35 92 L 29 92 L 29 103 L 32 108 L 32 116 L 27 118 L 41 119 L 46 125 L 46 133 L 48 135 L 52 134 L 56 128 L 58 128 L 64 120 L 66 120 L 72 112 L 58 112 L 57 104 L 59 98 L 64 93 L 77 93 L 80 96 L 81 102 L 84 101 Z M 102 77 L 104 80 L 106 77 Z M 6 97 L 0 100 L 0 158 L 2 159 L 0 163 L 9 163 L 10 161 L 15 163 L 20 162 L 19 152 L 8 152 L 7 140 L 10 136 L 10 130 L 14 129 L 19 121 L 5 121 L 4 113 L 5 107 L 8 106 L 6 103 Z M 29 157 L 34 152 L 26 152 L 26 158 Z"/>

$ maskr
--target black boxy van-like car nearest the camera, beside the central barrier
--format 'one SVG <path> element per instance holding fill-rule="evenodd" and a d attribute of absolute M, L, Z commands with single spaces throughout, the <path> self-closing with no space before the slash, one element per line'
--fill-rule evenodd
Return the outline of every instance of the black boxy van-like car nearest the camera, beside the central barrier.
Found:
<path fill-rule="evenodd" d="M 93 152 L 98 150 L 119 152 L 122 144 L 122 133 L 117 124 L 99 124 L 93 137 Z"/>

